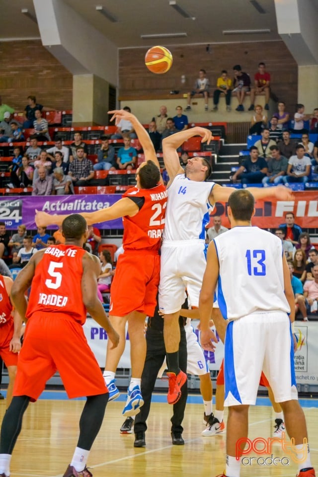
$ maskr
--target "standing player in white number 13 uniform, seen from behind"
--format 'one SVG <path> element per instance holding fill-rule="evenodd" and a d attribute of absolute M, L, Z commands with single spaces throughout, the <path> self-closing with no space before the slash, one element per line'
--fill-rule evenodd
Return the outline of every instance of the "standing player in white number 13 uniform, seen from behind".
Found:
<path fill-rule="evenodd" d="M 245 189 L 229 197 L 232 229 L 209 245 L 200 295 L 201 344 L 211 347 L 214 291 L 224 318 L 225 405 L 229 406 L 227 464 L 223 477 L 239 477 L 246 444 L 248 407 L 255 404 L 261 371 L 283 408 L 286 430 L 294 438 L 298 477 L 315 477 L 307 444 L 306 420 L 298 402 L 291 322 L 295 300 L 282 242 L 251 227 L 254 198 Z M 290 313 L 290 318 L 288 318 Z M 240 443 L 240 444 L 238 444 Z"/>

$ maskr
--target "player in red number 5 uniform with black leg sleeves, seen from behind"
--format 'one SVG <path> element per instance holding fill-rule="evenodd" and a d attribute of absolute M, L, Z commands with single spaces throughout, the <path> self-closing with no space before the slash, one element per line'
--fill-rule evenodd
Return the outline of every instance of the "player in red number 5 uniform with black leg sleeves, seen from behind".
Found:
<path fill-rule="evenodd" d="M 11 454 L 24 411 L 30 401 L 37 400 L 57 370 L 70 398 L 87 396 L 79 421 L 78 445 L 64 477 L 92 476 L 86 461 L 109 394 L 82 329 L 86 310 L 107 331 L 113 346 L 117 346 L 119 336 L 97 298 L 99 260 L 82 248 L 88 236 L 85 220 L 74 214 L 65 219 L 62 231 L 65 244 L 34 254 L 11 289 L 14 306 L 27 324 L 13 398 L 2 421 L 1 477 L 10 475 Z M 24 292 L 31 283 L 27 305 Z"/>

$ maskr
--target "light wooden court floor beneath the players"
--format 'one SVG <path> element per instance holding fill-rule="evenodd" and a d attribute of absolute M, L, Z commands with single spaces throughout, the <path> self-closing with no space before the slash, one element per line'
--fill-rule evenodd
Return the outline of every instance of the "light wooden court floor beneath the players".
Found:
<path fill-rule="evenodd" d="M 12 477 L 61 477 L 72 458 L 78 438 L 82 400 L 46 400 L 30 404 L 11 461 Z M 165 402 L 152 403 L 146 432 L 147 446 L 133 447 L 134 434 L 121 435 L 124 421 L 123 402 L 107 405 L 105 419 L 94 443 L 88 467 L 94 477 L 215 477 L 225 463 L 226 436 L 202 437 L 203 404 L 189 403 L 183 421 L 184 446 L 173 446 L 170 438 L 171 407 Z M 309 404 L 311 406 L 311 404 Z M 317 400 L 313 406 L 317 406 Z M 0 402 L 0 419 L 5 410 Z M 312 462 L 318 469 L 318 408 L 305 407 Z M 225 415 L 226 418 L 226 415 Z M 274 413 L 270 406 L 251 406 L 249 437 L 271 437 Z M 272 448 L 281 459 L 286 452 L 279 445 Z M 255 454 L 252 454 L 255 456 Z M 248 456 L 250 457 L 250 456 Z M 267 457 L 267 456 L 264 456 Z M 242 477 L 295 477 L 297 466 L 242 466 Z M 286 460 L 284 461 L 286 463 Z"/>

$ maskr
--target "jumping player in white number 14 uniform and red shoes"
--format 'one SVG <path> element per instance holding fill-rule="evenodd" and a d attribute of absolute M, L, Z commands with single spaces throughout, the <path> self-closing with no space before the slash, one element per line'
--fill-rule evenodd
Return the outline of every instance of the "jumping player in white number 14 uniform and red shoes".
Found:
<path fill-rule="evenodd" d="M 206 182 L 211 173 L 211 165 L 204 158 L 188 159 L 185 171 L 183 170 L 177 149 L 192 136 L 201 136 L 202 142 L 208 143 L 212 139 L 211 131 L 194 127 L 162 141 L 164 165 L 170 180 L 167 185 L 168 202 L 161 246 L 159 310 L 164 314 L 163 333 L 169 371 L 170 404 L 180 395 L 180 387 L 186 379 L 178 365 L 178 318 L 185 288 L 191 306 L 199 305 L 206 265 L 204 216 L 208 205 L 213 207 L 216 201 L 226 202 L 233 192 L 231 187 Z M 274 195 L 288 200 L 292 196 L 286 187 L 253 188 L 251 191 L 256 198 Z"/>

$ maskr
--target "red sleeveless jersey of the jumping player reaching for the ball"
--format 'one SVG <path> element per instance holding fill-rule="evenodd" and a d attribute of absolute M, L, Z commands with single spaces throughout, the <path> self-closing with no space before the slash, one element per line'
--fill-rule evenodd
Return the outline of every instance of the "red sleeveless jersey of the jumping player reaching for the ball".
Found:
<path fill-rule="evenodd" d="M 144 197 L 145 202 L 134 217 L 125 216 L 123 247 L 125 250 L 159 250 L 164 228 L 167 192 L 158 184 L 152 189 L 132 187 L 123 197 Z"/>

